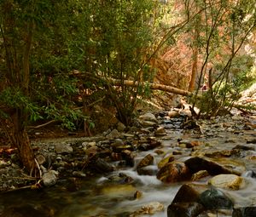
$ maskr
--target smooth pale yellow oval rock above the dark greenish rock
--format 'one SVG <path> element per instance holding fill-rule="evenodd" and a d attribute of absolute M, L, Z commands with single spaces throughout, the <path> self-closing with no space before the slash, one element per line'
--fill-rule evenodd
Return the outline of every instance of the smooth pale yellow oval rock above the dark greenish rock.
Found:
<path fill-rule="evenodd" d="M 228 190 L 239 190 L 244 186 L 244 180 L 236 174 L 218 174 L 212 177 L 208 183 L 212 186 Z"/>

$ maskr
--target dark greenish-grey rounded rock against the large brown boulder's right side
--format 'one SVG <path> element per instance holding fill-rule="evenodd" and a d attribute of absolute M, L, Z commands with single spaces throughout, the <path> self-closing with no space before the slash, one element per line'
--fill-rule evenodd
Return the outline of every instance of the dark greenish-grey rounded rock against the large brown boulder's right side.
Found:
<path fill-rule="evenodd" d="M 231 209 L 233 202 L 224 192 L 211 187 L 207 191 L 203 191 L 199 197 L 199 202 L 207 209 Z"/>

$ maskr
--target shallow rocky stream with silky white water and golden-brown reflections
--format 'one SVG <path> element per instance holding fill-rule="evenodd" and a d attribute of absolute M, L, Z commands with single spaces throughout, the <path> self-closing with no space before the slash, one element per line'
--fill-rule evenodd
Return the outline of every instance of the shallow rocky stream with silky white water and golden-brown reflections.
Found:
<path fill-rule="evenodd" d="M 137 174 L 137 164 L 148 154 L 154 157 L 154 164 L 148 169 L 157 171 L 157 164 L 168 153 L 176 153 L 178 159 L 200 153 L 207 153 L 207 156 L 224 153 L 236 146 L 254 146 L 251 141 L 256 139 L 255 130 L 244 129 L 239 122 L 225 128 L 218 121 L 211 123 L 204 128 L 203 134 L 196 134 L 193 130 L 180 128 L 180 119 L 161 118 L 160 126 L 166 129 L 166 135 L 158 137 L 160 140 L 159 151 L 137 151 L 134 167 L 119 168 L 110 174 L 97 174 L 96 176 L 84 179 L 70 178 L 58 180 L 55 186 L 45 187 L 38 190 L 10 191 L 0 196 L 0 216 L 3 210 L 10 210 L 6 217 L 35 216 L 35 217 L 104 217 L 104 216 L 153 216 L 166 217 L 166 208 L 172 203 L 180 186 L 184 182 L 163 183 L 156 178 L 156 175 Z M 227 122 L 227 124 L 230 124 Z M 203 123 L 201 123 L 203 125 Z M 178 146 L 177 140 L 196 140 L 201 146 L 195 149 Z M 256 179 L 252 178 L 252 171 L 256 171 L 256 151 L 241 151 L 240 156 L 232 156 L 240 161 L 245 169 L 241 176 L 245 180 L 245 186 L 237 191 L 223 190 L 230 195 L 239 206 L 256 205 Z M 244 156 L 242 156 L 244 155 Z M 222 158 L 220 156 L 219 158 Z M 117 164 L 118 162 L 115 162 Z M 127 184 L 109 181 L 109 177 L 125 176 L 133 180 Z M 195 183 L 207 184 L 211 176 L 196 180 Z M 189 181 L 191 182 L 191 181 Z M 140 195 L 135 197 L 136 192 Z M 148 204 L 161 204 L 163 208 L 156 208 L 152 212 L 140 212 L 147 208 Z M 138 211 L 137 211 L 138 210 Z M 134 213 L 136 212 L 137 213 Z M 19 215 L 19 214 L 20 215 Z M 22 215 L 23 214 L 23 215 Z M 132 215 L 133 214 L 133 215 Z M 220 216 L 229 216 L 222 215 Z M 5 217 L 5 216 L 4 216 Z"/>

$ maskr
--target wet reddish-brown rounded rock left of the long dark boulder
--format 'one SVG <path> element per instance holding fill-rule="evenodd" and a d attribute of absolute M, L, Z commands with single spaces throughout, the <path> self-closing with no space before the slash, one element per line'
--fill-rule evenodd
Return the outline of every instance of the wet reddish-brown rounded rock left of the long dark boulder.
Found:
<path fill-rule="evenodd" d="M 189 168 L 185 163 L 172 162 L 167 163 L 164 167 L 160 168 L 157 173 L 157 179 L 166 182 L 173 183 L 177 181 L 185 181 L 191 178 Z"/>

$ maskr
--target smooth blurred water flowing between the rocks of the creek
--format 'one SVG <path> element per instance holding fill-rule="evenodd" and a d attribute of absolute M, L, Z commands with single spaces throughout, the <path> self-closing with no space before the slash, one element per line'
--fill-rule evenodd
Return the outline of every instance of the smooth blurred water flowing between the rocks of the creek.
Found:
<path fill-rule="evenodd" d="M 177 146 L 177 139 L 196 139 L 204 144 L 206 151 L 222 150 L 236 145 L 246 144 L 247 138 L 255 138 L 255 131 L 244 132 L 244 134 L 234 134 L 228 132 L 220 132 L 218 136 L 198 136 L 195 134 L 183 134 L 182 131 L 172 126 L 172 123 L 164 123 L 168 134 L 163 137 L 162 150 L 166 152 L 183 151 L 183 157 L 189 156 L 190 150 Z M 253 152 L 253 151 L 252 151 Z M 255 152 L 255 151 L 254 151 Z M 158 156 L 153 151 L 142 151 L 137 154 L 136 163 L 140 161 L 148 153 L 154 156 L 154 165 L 160 161 L 162 156 Z M 255 153 L 253 153 L 255 154 Z M 256 169 L 254 161 L 244 161 L 247 170 Z M 27 216 L 30 214 L 31 207 L 42 210 L 42 213 L 55 217 L 89 217 L 89 216 L 129 216 L 129 213 L 146 206 L 148 203 L 158 202 L 164 205 L 164 210 L 155 212 L 154 217 L 166 217 L 166 208 L 172 203 L 179 187 L 183 183 L 163 184 L 156 176 L 139 175 L 134 168 L 122 168 L 113 174 L 126 174 L 130 176 L 134 182 L 131 184 L 119 185 L 108 181 L 106 176 L 98 176 L 86 178 L 84 180 L 70 179 L 60 180 L 58 185 L 40 190 L 22 190 L 13 191 L 2 194 L 0 197 L 0 214 L 4 208 L 23 206 Z M 109 175 L 113 175 L 109 174 Z M 232 198 L 236 198 L 239 205 L 256 205 L 256 182 L 255 178 L 248 177 L 249 172 L 243 174 L 246 180 L 246 186 L 239 191 L 226 191 Z M 207 180 L 201 180 L 206 182 Z M 136 191 L 142 192 L 142 197 L 134 199 Z M 0 215 L 1 216 L 1 215 Z M 20 216 L 20 215 L 17 215 Z M 23 216 L 23 215 L 22 215 Z M 24 215 L 26 216 L 26 215 Z M 37 214 L 35 217 L 40 217 Z M 218 215 L 221 216 L 221 215 Z M 8 216 L 9 217 L 9 216 Z"/>

